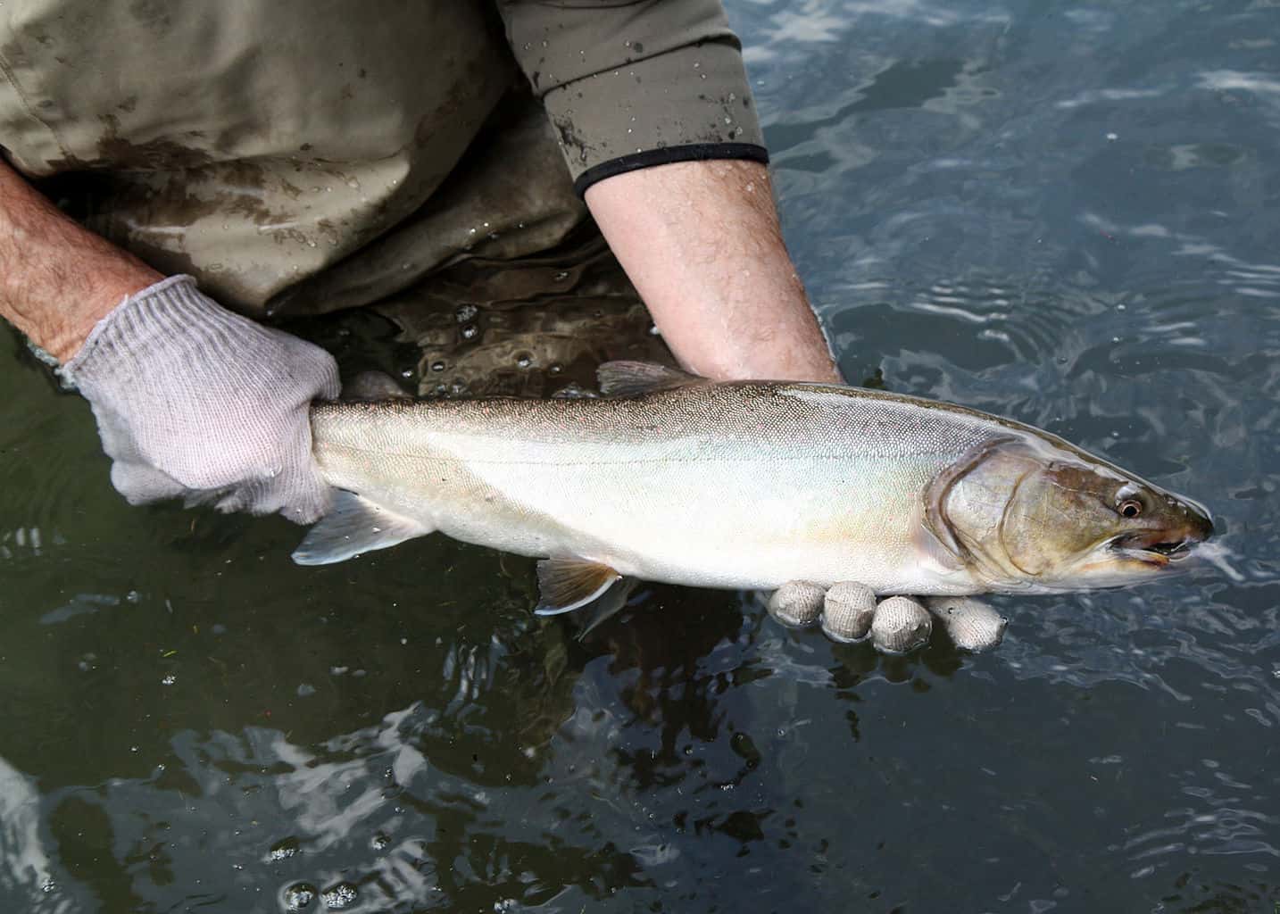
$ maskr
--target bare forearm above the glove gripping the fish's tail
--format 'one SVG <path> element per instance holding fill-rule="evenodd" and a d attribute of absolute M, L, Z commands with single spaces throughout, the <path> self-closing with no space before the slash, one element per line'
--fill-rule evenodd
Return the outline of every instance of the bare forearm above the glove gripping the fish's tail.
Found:
<path fill-rule="evenodd" d="M 65 364 L 120 300 L 159 279 L 0 161 L 0 317 L 33 343 Z"/>

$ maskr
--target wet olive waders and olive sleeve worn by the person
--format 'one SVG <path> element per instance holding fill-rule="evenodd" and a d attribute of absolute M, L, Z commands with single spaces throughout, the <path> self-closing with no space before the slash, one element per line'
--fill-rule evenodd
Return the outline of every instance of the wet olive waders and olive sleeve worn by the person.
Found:
<path fill-rule="evenodd" d="M 658 355 L 581 192 L 764 159 L 718 0 L 23 0 L 0 76 L 9 161 L 90 228 L 248 315 L 378 305 L 424 392 Z"/>

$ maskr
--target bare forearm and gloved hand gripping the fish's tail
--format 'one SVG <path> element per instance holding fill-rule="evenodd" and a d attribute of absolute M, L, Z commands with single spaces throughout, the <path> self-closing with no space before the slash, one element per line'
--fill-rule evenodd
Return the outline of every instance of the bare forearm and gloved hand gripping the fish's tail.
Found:
<path fill-rule="evenodd" d="M 310 522 L 329 489 L 308 408 L 323 349 L 227 311 L 64 216 L 0 164 L 0 316 L 61 362 L 131 503 L 211 502 Z"/>

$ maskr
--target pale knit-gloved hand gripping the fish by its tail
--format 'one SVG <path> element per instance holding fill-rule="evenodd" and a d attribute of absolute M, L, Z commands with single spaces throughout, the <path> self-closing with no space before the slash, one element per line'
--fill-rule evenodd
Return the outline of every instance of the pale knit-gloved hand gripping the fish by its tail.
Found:
<path fill-rule="evenodd" d="M 93 407 L 111 484 L 131 504 L 319 518 L 312 399 L 338 396 L 324 349 L 227 311 L 191 277 L 129 296 L 61 370 Z"/>

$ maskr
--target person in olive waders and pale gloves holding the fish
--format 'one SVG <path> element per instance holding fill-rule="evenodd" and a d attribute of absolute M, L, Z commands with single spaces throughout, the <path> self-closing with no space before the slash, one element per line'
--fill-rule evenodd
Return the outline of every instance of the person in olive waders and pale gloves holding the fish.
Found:
<path fill-rule="evenodd" d="M 517 260 L 579 198 L 686 369 L 838 380 L 718 0 L 0 17 L 0 316 L 88 399 L 131 503 L 316 520 L 306 410 L 335 364 L 253 319 Z M 33 183 L 68 174 L 81 221 Z"/>

